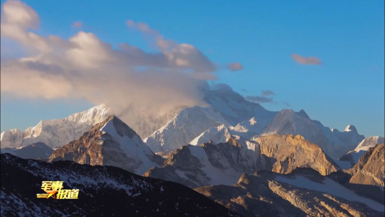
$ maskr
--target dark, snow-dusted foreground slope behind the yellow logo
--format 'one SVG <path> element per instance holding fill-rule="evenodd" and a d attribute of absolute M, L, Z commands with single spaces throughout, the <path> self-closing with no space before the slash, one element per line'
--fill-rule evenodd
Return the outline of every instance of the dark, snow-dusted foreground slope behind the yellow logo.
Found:
<path fill-rule="evenodd" d="M 186 186 L 112 166 L 46 163 L 10 154 L 1 154 L 0 165 L 2 216 L 239 216 Z M 79 189 L 79 199 L 36 198 L 47 180 Z"/>

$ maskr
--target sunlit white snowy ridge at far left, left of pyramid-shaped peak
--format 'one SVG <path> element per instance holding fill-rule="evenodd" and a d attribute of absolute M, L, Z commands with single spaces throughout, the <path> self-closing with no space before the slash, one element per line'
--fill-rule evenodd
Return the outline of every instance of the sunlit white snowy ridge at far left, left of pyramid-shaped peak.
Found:
<path fill-rule="evenodd" d="M 104 104 L 84 112 L 70 115 L 64 119 L 41 120 L 36 126 L 28 127 L 24 132 L 11 129 L 0 134 L 0 147 L 20 147 L 36 142 L 43 142 L 49 147 L 62 147 L 79 138 L 92 125 L 107 117 L 109 108 Z"/>

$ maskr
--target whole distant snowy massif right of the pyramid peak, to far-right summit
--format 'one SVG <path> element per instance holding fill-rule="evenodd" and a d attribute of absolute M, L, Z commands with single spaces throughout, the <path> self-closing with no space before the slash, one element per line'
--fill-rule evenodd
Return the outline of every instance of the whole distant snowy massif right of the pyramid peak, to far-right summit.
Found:
<path fill-rule="evenodd" d="M 343 132 L 330 129 L 317 120 L 311 120 L 304 110 L 270 112 L 258 103 L 245 100 L 226 85 L 216 90 L 205 90 L 204 100 L 208 107 L 185 108 L 144 141 L 154 152 L 161 152 L 201 141 L 223 142 L 229 134 L 246 140 L 260 135 L 294 134 L 305 137 L 333 159 L 338 159 L 365 138 L 353 125 L 348 125 Z M 213 112 L 200 111 L 204 109 Z M 198 118 L 200 115 L 202 118 Z M 217 128 L 222 124 L 226 129 Z"/>

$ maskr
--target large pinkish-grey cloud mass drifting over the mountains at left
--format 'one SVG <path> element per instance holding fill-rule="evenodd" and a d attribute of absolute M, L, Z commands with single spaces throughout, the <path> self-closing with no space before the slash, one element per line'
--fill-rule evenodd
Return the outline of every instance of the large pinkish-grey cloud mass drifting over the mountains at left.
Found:
<path fill-rule="evenodd" d="M 40 24 L 32 7 L 8 0 L 2 10 L 1 37 L 30 51 L 19 59 L 2 60 L 2 93 L 83 98 L 106 103 L 116 114 L 132 108 L 158 115 L 175 107 L 203 105 L 199 90 L 216 78 L 214 63 L 196 47 L 166 40 L 145 23 L 127 20 L 126 25 L 150 35 L 157 52 L 129 43 L 115 49 L 92 32 L 79 31 L 68 39 L 42 36 L 31 31 Z"/>

